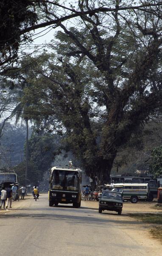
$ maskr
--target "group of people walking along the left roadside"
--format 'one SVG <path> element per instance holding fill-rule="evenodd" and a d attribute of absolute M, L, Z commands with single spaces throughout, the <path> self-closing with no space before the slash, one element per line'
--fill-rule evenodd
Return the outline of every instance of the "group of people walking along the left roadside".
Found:
<path fill-rule="evenodd" d="M 6 203 L 6 208 L 8 208 L 9 203 L 10 203 L 9 207 L 12 208 L 11 207 L 12 201 L 14 201 L 16 198 L 17 190 L 18 188 L 16 186 L 16 183 L 14 183 L 13 186 L 9 185 L 7 188 L 2 187 L 2 190 L 0 190 L 0 209 L 2 208 L 2 206 L 3 206 L 3 209 L 5 209 L 5 203 Z M 24 199 L 25 191 L 26 191 L 25 186 L 22 186 L 20 190 L 21 190 L 21 199 Z"/>

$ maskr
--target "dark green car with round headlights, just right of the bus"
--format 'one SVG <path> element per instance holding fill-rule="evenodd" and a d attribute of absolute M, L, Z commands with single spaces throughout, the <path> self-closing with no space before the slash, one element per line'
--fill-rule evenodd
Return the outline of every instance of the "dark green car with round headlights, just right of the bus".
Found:
<path fill-rule="evenodd" d="M 123 209 L 122 193 L 114 191 L 103 191 L 99 200 L 98 212 L 102 213 L 104 210 L 115 211 L 121 215 Z"/>

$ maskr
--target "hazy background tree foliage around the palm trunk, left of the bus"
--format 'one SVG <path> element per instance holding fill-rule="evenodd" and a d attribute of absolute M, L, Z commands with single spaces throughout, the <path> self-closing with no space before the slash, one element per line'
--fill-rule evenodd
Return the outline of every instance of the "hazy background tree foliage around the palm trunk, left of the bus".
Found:
<path fill-rule="evenodd" d="M 59 137 L 49 133 L 36 134 L 33 131 L 29 139 L 28 152 L 28 180 L 27 183 L 39 183 L 43 175 L 49 170 L 59 147 Z M 22 161 L 14 166 L 20 175 L 21 184 L 25 181 L 26 162 Z"/>

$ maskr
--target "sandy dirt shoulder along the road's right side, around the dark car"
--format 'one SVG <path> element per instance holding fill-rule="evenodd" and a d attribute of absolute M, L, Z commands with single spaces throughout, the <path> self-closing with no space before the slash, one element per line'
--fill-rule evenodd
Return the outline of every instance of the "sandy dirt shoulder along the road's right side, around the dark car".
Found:
<path fill-rule="evenodd" d="M 116 212 L 104 211 L 102 213 L 103 218 L 108 218 L 111 221 L 111 224 L 115 228 L 119 228 L 126 233 L 128 236 L 131 236 L 137 244 L 145 246 L 147 248 L 148 255 L 150 255 L 150 250 L 154 256 L 159 255 L 159 252 L 162 250 L 162 243 L 159 240 L 154 239 L 153 234 L 150 233 L 151 228 L 154 227 L 154 224 L 148 224 L 142 222 L 140 219 L 130 217 L 130 213 L 134 214 L 159 214 L 162 213 L 162 209 L 157 209 L 155 207 L 156 201 L 146 202 L 141 201 L 137 204 L 131 204 L 126 202 L 123 204 L 122 215 L 117 215 Z M 88 207 L 92 211 L 95 210 L 98 212 L 98 202 L 97 201 L 83 201 L 81 206 Z"/>

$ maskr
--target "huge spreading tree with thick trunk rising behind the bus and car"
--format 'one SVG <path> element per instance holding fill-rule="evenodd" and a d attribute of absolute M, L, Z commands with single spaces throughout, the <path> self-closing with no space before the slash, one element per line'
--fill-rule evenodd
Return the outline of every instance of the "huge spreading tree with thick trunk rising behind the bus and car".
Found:
<path fill-rule="evenodd" d="M 78 27 L 60 20 L 62 31 L 53 42 L 57 56 L 44 55 L 43 64 L 35 59 L 35 85 L 25 90 L 33 118 L 58 120 L 87 172 L 105 182 L 117 151 L 161 106 L 161 6 L 132 3 L 109 1 L 111 8 L 90 13 L 92 2 L 79 1 Z M 51 22 L 59 19 L 52 9 L 45 11 Z"/>

